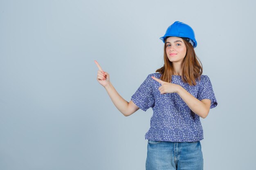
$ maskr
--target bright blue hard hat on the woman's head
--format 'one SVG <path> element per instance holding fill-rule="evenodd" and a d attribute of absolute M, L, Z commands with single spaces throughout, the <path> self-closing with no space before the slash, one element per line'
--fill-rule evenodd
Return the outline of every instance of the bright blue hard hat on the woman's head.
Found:
<path fill-rule="evenodd" d="M 195 33 L 193 29 L 184 22 L 175 21 L 173 24 L 171 24 L 164 34 L 163 37 L 160 38 L 163 42 L 165 42 L 166 37 L 180 37 L 180 38 L 186 38 L 184 40 L 187 40 L 190 42 L 195 48 L 197 46 L 197 42 L 195 40 Z M 189 38 L 189 39 L 187 39 Z"/>

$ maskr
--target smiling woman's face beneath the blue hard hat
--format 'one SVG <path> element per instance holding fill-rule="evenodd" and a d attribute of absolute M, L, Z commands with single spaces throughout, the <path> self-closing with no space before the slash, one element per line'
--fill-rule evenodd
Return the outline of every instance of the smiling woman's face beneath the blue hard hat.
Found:
<path fill-rule="evenodd" d="M 186 55 L 184 40 L 180 37 L 166 39 L 166 54 L 171 62 L 182 62 Z"/>

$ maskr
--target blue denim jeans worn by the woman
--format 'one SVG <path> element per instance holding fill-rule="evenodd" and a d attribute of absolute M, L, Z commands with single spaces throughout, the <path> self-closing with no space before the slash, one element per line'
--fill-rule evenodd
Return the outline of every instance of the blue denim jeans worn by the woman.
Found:
<path fill-rule="evenodd" d="M 146 170 L 203 170 L 200 141 L 148 140 Z"/>

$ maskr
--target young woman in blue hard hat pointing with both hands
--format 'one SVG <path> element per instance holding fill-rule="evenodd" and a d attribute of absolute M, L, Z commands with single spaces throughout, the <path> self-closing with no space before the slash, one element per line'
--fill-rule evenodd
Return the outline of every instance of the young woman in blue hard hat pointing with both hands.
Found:
<path fill-rule="evenodd" d="M 146 170 L 203 170 L 200 117 L 207 117 L 210 108 L 218 104 L 212 84 L 202 75 L 194 51 L 195 33 L 189 25 L 176 21 L 160 39 L 164 42 L 164 66 L 146 77 L 130 102 L 117 93 L 109 74 L 95 61 L 97 80 L 125 116 L 139 108 L 153 109 L 145 135 Z"/>

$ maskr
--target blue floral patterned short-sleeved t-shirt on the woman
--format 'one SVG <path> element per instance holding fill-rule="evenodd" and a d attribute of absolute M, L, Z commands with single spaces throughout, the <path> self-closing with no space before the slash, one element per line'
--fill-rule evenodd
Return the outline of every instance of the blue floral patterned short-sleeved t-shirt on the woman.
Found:
<path fill-rule="evenodd" d="M 149 74 L 131 97 L 132 102 L 141 110 L 153 109 L 150 128 L 146 132 L 145 139 L 173 142 L 192 142 L 204 139 L 200 117 L 190 110 L 177 93 L 160 94 L 158 88 L 162 85 L 151 76 L 160 79 L 161 74 Z M 210 108 L 216 107 L 218 103 L 209 77 L 201 75 L 200 81 L 198 79 L 195 81 L 197 84 L 190 86 L 182 81 L 182 76 L 172 75 L 171 83 L 179 84 L 200 101 L 210 99 Z"/>

